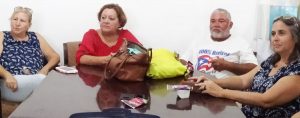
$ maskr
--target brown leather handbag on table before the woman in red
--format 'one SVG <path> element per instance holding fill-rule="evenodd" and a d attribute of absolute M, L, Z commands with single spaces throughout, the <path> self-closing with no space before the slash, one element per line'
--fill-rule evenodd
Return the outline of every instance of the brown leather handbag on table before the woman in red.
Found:
<path fill-rule="evenodd" d="M 151 58 L 152 49 L 124 39 L 120 50 L 106 64 L 104 77 L 122 81 L 143 81 Z"/>

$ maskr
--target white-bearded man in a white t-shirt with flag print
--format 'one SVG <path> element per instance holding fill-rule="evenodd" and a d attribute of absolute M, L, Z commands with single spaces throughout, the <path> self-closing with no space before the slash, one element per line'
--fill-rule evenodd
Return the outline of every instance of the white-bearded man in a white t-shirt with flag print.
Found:
<path fill-rule="evenodd" d="M 195 43 L 183 59 L 194 64 L 194 71 L 216 78 L 245 74 L 256 67 L 257 59 L 249 44 L 230 34 L 232 26 L 227 10 L 214 10 L 210 17 L 210 37 Z"/>

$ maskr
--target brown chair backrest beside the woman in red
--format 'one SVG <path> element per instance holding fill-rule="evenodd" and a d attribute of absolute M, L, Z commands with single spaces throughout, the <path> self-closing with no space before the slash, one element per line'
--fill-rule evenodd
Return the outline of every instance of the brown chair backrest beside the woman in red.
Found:
<path fill-rule="evenodd" d="M 76 51 L 81 41 L 63 43 L 64 48 L 64 65 L 76 66 Z"/>

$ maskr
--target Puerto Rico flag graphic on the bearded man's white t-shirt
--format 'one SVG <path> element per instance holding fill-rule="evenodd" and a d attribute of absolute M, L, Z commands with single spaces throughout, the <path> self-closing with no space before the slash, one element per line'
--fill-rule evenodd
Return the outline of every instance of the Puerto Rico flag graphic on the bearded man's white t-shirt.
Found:
<path fill-rule="evenodd" d="M 201 55 L 197 58 L 196 69 L 198 71 L 211 71 L 214 70 L 211 66 L 210 60 L 212 58 L 209 55 Z"/>

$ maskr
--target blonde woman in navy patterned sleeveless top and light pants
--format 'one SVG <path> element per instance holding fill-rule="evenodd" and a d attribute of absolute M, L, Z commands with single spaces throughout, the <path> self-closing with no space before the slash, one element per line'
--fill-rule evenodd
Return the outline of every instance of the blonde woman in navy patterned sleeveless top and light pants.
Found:
<path fill-rule="evenodd" d="M 2 98 L 23 101 L 48 72 L 59 55 L 38 33 L 29 32 L 32 11 L 16 7 L 10 18 L 11 31 L 0 32 L 0 86 Z"/>

